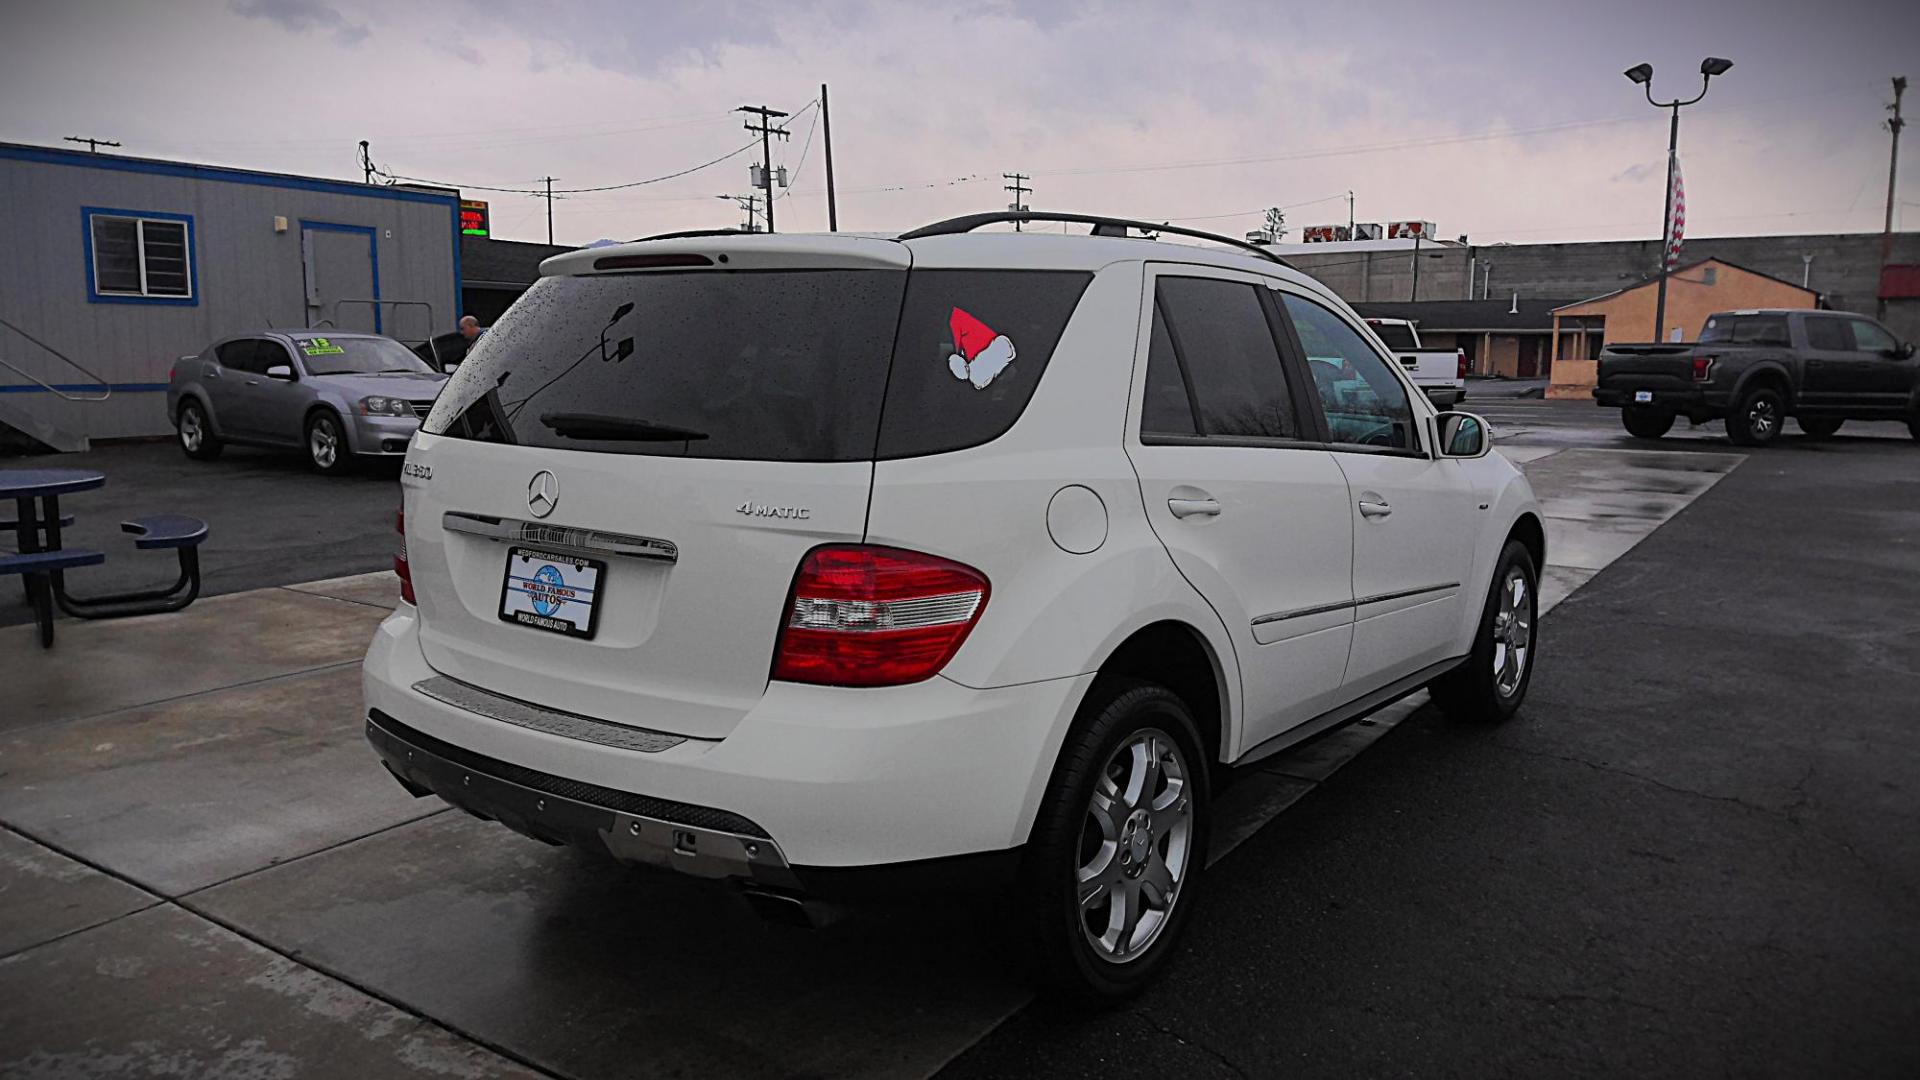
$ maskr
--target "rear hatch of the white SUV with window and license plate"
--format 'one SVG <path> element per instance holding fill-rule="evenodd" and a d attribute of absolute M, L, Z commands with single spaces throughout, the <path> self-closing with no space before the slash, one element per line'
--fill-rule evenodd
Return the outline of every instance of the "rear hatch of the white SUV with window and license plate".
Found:
<path fill-rule="evenodd" d="M 720 738 L 795 567 L 866 528 L 908 252 L 645 252 L 549 263 L 440 394 L 405 500 L 420 644 L 507 698 Z"/>

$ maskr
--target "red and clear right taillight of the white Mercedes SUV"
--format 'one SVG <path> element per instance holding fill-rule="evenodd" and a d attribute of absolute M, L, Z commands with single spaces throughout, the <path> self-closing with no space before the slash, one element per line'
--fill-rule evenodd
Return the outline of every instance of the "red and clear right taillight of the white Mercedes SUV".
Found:
<path fill-rule="evenodd" d="M 900 686 L 931 678 L 987 607 L 987 575 L 920 552 L 833 544 L 793 575 L 774 678 Z"/>

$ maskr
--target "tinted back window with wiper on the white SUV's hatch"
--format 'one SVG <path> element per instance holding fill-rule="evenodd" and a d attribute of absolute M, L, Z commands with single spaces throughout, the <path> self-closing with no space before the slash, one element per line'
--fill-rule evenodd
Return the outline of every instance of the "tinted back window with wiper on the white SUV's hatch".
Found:
<path fill-rule="evenodd" d="M 424 429 L 599 454 L 868 459 L 906 277 L 547 277 L 474 342 Z"/>

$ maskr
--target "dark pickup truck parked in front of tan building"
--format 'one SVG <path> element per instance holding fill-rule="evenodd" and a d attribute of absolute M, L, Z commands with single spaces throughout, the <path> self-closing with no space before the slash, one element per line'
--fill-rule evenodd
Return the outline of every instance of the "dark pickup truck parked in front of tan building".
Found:
<path fill-rule="evenodd" d="M 1872 419 L 1907 421 L 1920 440 L 1912 342 L 1845 311 L 1722 311 L 1697 342 L 1607 346 L 1594 400 L 1638 438 L 1667 434 L 1674 417 L 1724 417 L 1736 446 L 1764 446 L 1795 417 L 1816 438 Z"/>

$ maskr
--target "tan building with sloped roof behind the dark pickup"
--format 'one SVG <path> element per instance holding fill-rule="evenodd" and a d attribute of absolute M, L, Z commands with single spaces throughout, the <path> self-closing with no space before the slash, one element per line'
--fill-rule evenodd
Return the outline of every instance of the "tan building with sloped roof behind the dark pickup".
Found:
<path fill-rule="evenodd" d="M 1747 307 L 1814 307 L 1818 294 L 1791 281 L 1726 259 L 1701 259 L 1667 275 L 1667 327 L 1653 332 L 1659 281 L 1607 292 L 1553 309 L 1553 382 L 1548 398 L 1586 398 L 1594 390 L 1599 350 L 1615 342 L 1693 340 L 1707 315 Z"/>

